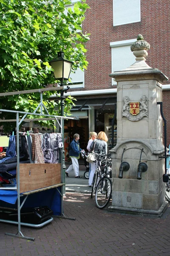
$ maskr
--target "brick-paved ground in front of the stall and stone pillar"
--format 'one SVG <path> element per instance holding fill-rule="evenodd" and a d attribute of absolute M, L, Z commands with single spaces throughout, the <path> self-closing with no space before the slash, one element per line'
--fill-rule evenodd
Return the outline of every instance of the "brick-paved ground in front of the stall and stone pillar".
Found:
<path fill-rule="evenodd" d="M 170 209 L 161 218 L 121 215 L 96 208 L 88 194 L 66 193 L 64 214 L 45 227 L 21 227 L 35 241 L 6 236 L 17 226 L 0 224 L 0 256 L 170 256 Z"/>

